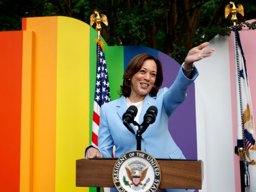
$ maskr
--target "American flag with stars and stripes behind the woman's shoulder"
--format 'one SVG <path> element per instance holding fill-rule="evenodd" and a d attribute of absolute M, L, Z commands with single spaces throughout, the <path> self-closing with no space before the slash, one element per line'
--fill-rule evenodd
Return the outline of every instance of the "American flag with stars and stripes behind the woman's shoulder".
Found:
<path fill-rule="evenodd" d="M 110 101 L 109 78 L 106 59 L 99 43 L 97 44 L 97 76 L 93 104 L 92 143 L 98 146 L 99 117 L 101 105 Z"/>

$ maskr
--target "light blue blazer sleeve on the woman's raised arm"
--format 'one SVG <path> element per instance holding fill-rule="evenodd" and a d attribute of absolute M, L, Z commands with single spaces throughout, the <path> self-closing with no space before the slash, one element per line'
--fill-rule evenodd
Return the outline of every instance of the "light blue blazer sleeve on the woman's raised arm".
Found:
<path fill-rule="evenodd" d="M 180 103 L 182 103 L 187 98 L 188 86 L 198 76 L 198 71 L 196 67 L 194 67 L 191 76 L 192 78 L 188 79 L 184 75 L 182 68 L 180 68 L 177 78 L 175 79 L 172 86 L 170 86 L 169 89 L 164 89 L 163 106 L 168 116 L 170 116 L 177 108 L 177 106 L 180 105 Z"/>

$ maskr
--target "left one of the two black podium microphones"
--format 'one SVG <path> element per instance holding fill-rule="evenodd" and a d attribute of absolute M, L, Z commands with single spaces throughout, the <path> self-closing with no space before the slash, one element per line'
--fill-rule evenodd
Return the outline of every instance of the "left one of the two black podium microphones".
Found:
<path fill-rule="evenodd" d="M 138 113 L 138 109 L 134 105 L 132 105 L 132 106 L 129 106 L 129 108 L 126 110 L 126 112 L 124 112 L 123 117 L 122 117 L 123 124 L 133 134 L 135 134 L 135 131 L 133 130 L 133 128 L 131 127 L 131 125 L 129 123 L 133 123 L 134 118 L 136 117 L 137 113 Z"/>

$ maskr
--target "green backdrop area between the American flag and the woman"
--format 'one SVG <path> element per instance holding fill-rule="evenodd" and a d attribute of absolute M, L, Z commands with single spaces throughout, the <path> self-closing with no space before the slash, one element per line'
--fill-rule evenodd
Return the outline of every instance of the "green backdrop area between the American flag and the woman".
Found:
<path fill-rule="evenodd" d="M 106 47 L 105 58 L 108 67 L 111 101 L 120 97 L 120 85 L 123 84 L 124 74 L 124 47 Z"/>

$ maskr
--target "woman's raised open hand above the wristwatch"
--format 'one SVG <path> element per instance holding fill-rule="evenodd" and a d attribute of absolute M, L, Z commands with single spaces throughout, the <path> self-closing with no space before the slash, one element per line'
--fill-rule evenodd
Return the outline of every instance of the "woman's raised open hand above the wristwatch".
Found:
<path fill-rule="evenodd" d="M 204 42 L 204 43 L 200 44 L 199 46 L 190 49 L 187 57 L 185 58 L 184 67 L 186 69 L 189 69 L 192 67 L 192 65 L 195 61 L 199 61 L 199 60 L 203 59 L 204 57 L 211 56 L 211 53 L 215 51 L 214 48 L 202 50 L 203 48 L 205 48 L 208 45 L 209 45 L 209 42 Z"/>

